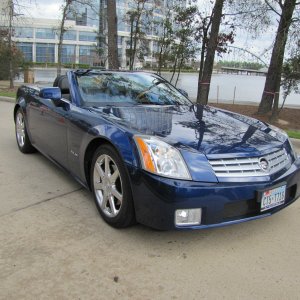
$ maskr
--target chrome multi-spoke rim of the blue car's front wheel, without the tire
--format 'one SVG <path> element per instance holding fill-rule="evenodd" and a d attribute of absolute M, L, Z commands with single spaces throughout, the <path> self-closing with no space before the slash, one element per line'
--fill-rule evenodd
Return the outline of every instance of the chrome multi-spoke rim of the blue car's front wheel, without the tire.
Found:
<path fill-rule="evenodd" d="M 109 155 L 97 158 L 93 184 L 100 209 L 106 216 L 116 217 L 123 203 L 123 189 L 119 169 Z"/>

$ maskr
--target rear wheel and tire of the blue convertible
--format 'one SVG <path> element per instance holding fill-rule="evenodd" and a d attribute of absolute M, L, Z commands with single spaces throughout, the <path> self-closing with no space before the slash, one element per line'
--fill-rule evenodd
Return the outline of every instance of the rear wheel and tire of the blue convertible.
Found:
<path fill-rule="evenodd" d="M 16 140 L 19 150 L 22 153 L 33 153 L 36 152 L 35 148 L 31 145 L 29 136 L 26 129 L 24 113 L 21 108 L 17 110 L 15 117 L 15 132 Z"/>

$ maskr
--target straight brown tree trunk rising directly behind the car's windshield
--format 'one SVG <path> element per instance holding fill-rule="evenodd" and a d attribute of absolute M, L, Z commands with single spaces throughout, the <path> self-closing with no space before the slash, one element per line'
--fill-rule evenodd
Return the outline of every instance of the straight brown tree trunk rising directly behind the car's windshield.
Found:
<path fill-rule="evenodd" d="M 108 65 L 110 69 L 119 69 L 116 0 L 109 0 L 107 2 L 107 29 L 108 29 Z"/>

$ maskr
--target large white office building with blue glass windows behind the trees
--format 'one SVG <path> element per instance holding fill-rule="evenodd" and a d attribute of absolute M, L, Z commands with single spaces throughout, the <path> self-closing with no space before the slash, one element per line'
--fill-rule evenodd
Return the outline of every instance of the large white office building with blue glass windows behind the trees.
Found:
<path fill-rule="evenodd" d="M 170 2 L 172 0 L 161 1 L 160 6 L 155 6 L 154 0 L 147 2 L 148 9 L 153 10 L 153 22 L 150 26 L 144 28 L 145 37 L 148 41 L 149 55 L 144 57 L 143 62 L 136 60 L 136 68 L 142 67 L 142 63 L 144 65 L 155 63 L 153 52 L 157 50 L 157 40 L 160 34 L 155 24 L 164 18 L 164 10 L 167 3 L 170 5 Z M 174 0 L 172 3 L 186 6 L 186 2 Z M 2 28 L 8 26 L 7 3 L 8 0 L 1 1 L 0 3 L 0 23 Z M 130 26 L 126 22 L 125 16 L 133 8 L 134 0 L 117 0 L 118 54 L 122 68 L 127 68 L 128 66 L 126 49 L 130 37 Z M 64 64 L 86 64 L 90 66 L 105 64 L 105 53 L 102 57 L 99 57 L 96 47 L 99 24 L 103 30 L 103 35 L 106 35 L 105 14 L 106 0 L 94 0 L 92 7 L 79 3 L 73 4 L 65 23 L 67 31 L 64 34 L 62 50 L 62 62 Z M 27 61 L 34 63 L 57 63 L 59 20 L 19 17 L 14 18 L 13 27 L 13 41 L 24 53 Z"/>

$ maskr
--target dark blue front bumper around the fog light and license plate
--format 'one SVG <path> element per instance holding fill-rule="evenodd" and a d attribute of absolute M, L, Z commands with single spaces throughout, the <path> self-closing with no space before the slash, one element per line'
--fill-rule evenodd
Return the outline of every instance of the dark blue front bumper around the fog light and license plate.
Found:
<path fill-rule="evenodd" d="M 201 183 L 174 180 L 129 168 L 136 219 L 159 230 L 202 229 L 263 218 L 285 208 L 300 194 L 300 161 L 268 182 Z M 259 191 L 286 184 L 285 203 L 260 212 Z M 202 208 L 197 226 L 175 225 L 177 209 Z"/>

